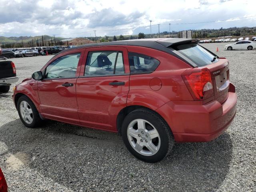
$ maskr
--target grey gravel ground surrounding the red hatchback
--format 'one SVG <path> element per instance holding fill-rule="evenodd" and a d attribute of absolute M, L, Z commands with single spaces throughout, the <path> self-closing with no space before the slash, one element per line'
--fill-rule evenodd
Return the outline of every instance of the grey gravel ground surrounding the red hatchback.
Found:
<path fill-rule="evenodd" d="M 224 51 L 224 44 L 202 46 L 218 46 L 218 56 L 230 61 L 238 94 L 232 125 L 212 142 L 175 144 L 155 164 L 134 158 L 114 133 L 50 120 L 26 128 L 12 91 L 0 94 L 0 167 L 9 191 L 256 191 L 256 50 Z M 19 82 L 51 57 L 12 59 Z"/>

